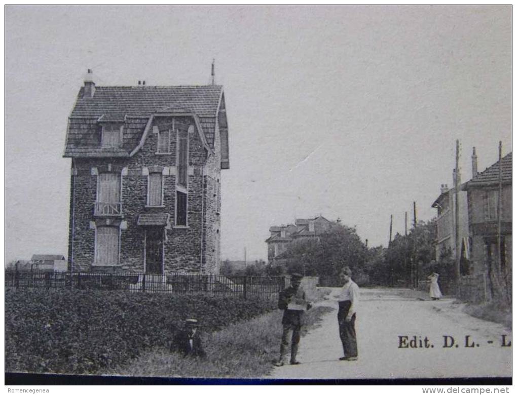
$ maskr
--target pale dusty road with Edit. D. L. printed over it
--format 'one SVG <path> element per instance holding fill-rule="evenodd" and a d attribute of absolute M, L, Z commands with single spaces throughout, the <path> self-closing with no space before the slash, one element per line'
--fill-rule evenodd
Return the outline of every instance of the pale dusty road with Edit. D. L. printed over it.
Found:
<path fill-rule="evenodd" d="M 501 347 L 501 335 L 507 335 L 507 343 L 511 340 L 510 329 L 470 317 L 453 299 L 420 301 L 396 289 L 361 289 L 356 321 L 359 359 L 339 361 L 343 350 L 333 297 L 337 290 L 320 302 L 335 310 L 300 341 L 301 365 L 275 368 L 268 378 L 511 376 L 511 347 Z M 474 347 L 465 347 L 467 335 Z M 400 348 L 400 336 L 408 337 L 404 345 L 413 336 L 423 345 L 427 337 L 433 347 Z M 458 347 L 444 347 L 444 336 L 454 338 Z"/>

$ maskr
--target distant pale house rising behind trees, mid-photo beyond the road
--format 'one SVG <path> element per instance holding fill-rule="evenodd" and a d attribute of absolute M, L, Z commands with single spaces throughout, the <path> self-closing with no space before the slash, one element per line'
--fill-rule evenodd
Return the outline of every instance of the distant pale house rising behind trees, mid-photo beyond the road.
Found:
<path fill-rule="evenodd" d="M 266 240 L 269 263 L 282 259 L 282 254 L 291 243 L 300 240 L 317 239 L 318 235 L 330 230 L 332 223 L 323 216 L 311 219 L 296 219 L 294 224 L 271 226 L 271 235 Z"/>

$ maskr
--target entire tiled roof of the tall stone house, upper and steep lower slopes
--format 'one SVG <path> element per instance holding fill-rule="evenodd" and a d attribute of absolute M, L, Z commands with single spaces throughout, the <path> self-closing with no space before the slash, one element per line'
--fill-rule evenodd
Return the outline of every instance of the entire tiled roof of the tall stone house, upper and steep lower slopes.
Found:
<path fill-rule="evenodd" d="M 207 144 L 214 147 L 220 85 L 96 86 L 93 97 L 86 98 L 83 92 L 84 87 L 69 117 L 65 157 L 127 157 L 155 113 L 196 114 Z M 123 122 L 120 148 L 100 147 L 103 122 Z"/>

